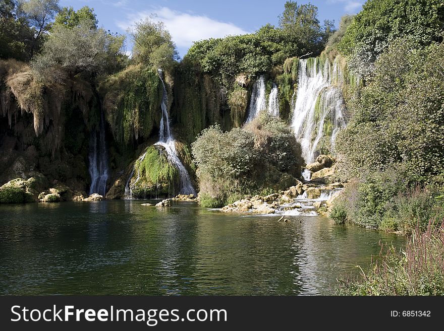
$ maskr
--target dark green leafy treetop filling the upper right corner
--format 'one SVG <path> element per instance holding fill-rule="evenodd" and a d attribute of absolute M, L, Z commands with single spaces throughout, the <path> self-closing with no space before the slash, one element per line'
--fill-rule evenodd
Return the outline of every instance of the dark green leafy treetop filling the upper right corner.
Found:
<path fill-rule="evenodd" d="M 393 40 L 410 36 L 422 46 L 440 42 L 443 24 L 444 4 L 439 0 L 369 0 L 338 49 L 354 57 L 352 70 L 366 77 L 368 67 Z"/>

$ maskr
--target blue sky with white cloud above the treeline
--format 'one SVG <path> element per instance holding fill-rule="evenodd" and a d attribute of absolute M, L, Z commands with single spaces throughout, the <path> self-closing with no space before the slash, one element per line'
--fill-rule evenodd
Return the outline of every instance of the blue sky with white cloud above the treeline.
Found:
<path fill-rule="evenodd" d="M 61 0 L 63 7 L 94 8 L 99 25 L 106 30 L 124 34 L 140 19 L 156 14 L 165 23 L 183 57 L 193 41 L 210 37 L 224 37 L 254 32 L 270 23 L 278 25 L 278 16 L 286 0 Z M 309 1 L 298 1 L 307 4 Z M 319 21 L 339 19 L 344 14 L 355 14 L 364 0 L 312 0 L 319 9 Z M 131 51 L 127 40 L 127 51 Z"/>

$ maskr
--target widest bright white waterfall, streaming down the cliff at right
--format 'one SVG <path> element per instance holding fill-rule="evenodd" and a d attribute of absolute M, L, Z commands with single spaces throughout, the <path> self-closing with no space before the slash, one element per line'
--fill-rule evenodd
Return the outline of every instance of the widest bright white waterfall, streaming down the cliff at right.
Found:
<path fill-rule="evenodd" d="M 318 57 L 299 60 L 299 82 L 293 123 L 306 163 L 333 150 L 339 130 L 346 126 L 341 88 L 343 80 L 336 62 Z"/>

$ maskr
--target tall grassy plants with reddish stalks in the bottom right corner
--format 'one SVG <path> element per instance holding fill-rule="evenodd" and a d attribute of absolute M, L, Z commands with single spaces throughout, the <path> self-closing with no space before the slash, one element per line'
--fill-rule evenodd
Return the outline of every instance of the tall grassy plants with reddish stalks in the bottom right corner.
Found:
<path fill-rule="evenodd" d="M 356 280 L 340 281 L 339 295 L 444 295 L 443 224 L 416 228 L 406 248 L 388 247 Z"/>

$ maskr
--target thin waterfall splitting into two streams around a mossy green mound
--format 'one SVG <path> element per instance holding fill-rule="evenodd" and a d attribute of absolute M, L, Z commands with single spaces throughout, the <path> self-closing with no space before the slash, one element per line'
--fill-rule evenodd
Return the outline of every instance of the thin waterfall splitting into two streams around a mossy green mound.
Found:
<path fill-rule="evenodd" d="M 162 82 L 163 86 L 163 95 L 162 95 L 162 102 L 160 104 L 160 108 L 162 110 L 162 117 L 160 119 L 160 127 L 159 127 L 159 141 L 155 143 L 155 146 L 162 146 L 165 149 L 165 152 L 167 153 L 167 158 L 170 164 L 172 164 L 174 167 L 176 167 L 179 171 L 180 176 L 180 187 L 179 187 L 179 194 L 194 194 L 196 195 L 196 190 L 194 189 L 193 185 L 191 184 L 191 178 L 190 175 L 183 165 L 182 161 L 180 160 L 177 149 L 176 149 L 176 141 L 173 138 L 173 135 L 171 134 L 170 130 L 170 117 L 168 115 L 168 109 L 167 109 L 167 88 L 165 87 L 165 83 L 163 82 L 163 75 L 162 71 L 160 69 L 157 70 L 157 73 L 159 75 L 160 81 Z M 146 152 L 138 159 L 139 162 L 143 161 L 145 158 Z M 134 177 L 134 172 L 136 169 L 137 161 L 134 163 L 134 168 L 130 174 L 130 177 L 126 183 L 125 186 L 125 198 L 133 198 L 133 189 L 136 186 L 137 182 L 140 180 L 140 169 L 138 170 L 138 176 L 135 180 L 132 181 Z"/>

